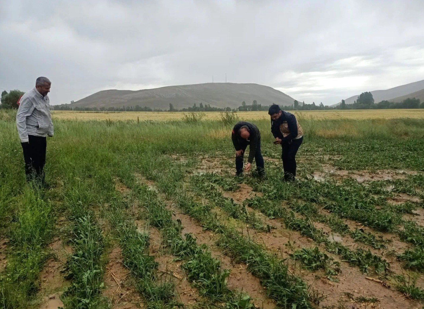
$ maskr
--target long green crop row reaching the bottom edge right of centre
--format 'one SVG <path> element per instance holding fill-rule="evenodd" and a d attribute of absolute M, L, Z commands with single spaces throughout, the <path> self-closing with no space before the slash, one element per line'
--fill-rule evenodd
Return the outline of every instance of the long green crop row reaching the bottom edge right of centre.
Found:
<path fill-rule="evenodd" d="M 172 170 L 169 170 L 170 174 Z M 175 173 L 178 174 L 178 171 Z M 216 214 L 211 212 L 213 206 L 210 203 L 199 203 L 183 190 L 169 190 L 168 188 L 174 183 L 173 177 L 167 177 L 169 173 L 150 173 L 149 175 L 156 181 L 158 188 L 175 201 L 181 211 L 195 219 L 204 228 L 220 236 L 218 246 L 223 248 L 227 255 L 246 263 L 247 269 L 261 279 L 269 297 L 273 298 L 279 307 L 312 308 L 311 301 L 314 302 L 317 299 L 310 298 L 307 285 L 290 273 L 282 259 L 268 253 L 262 245 L 241 236 L 238 230 L 220 223 Z"/>

